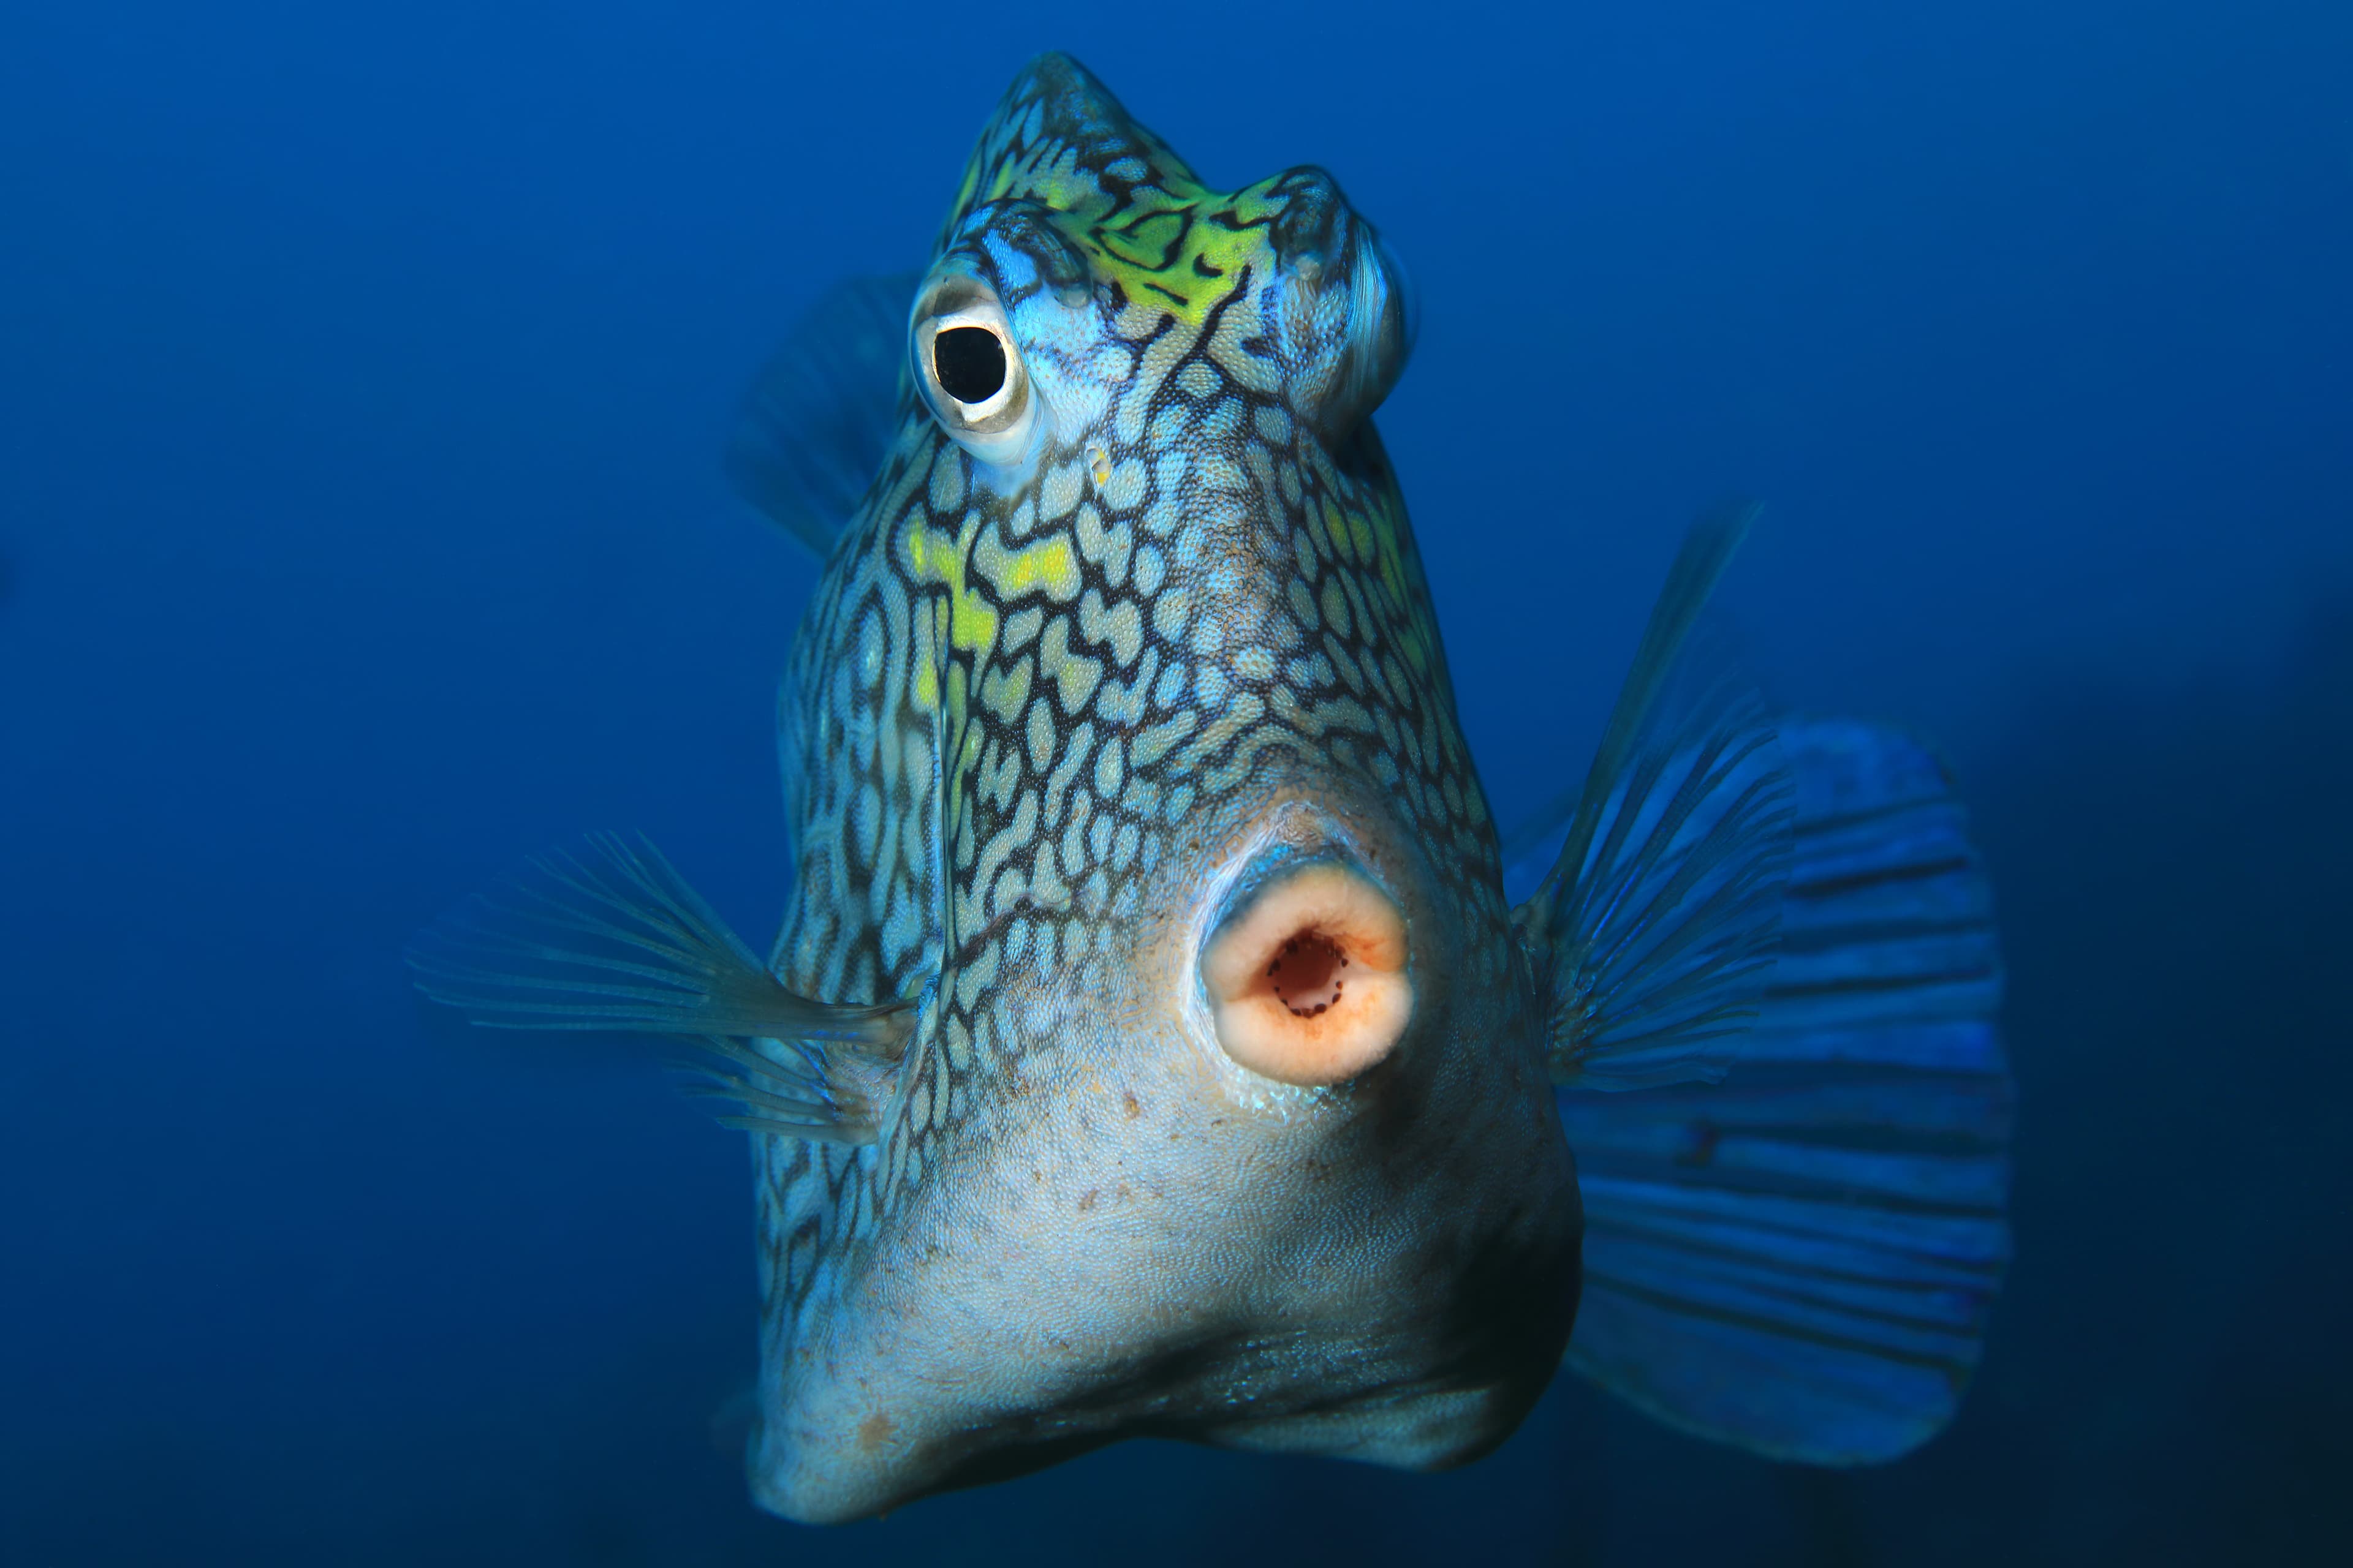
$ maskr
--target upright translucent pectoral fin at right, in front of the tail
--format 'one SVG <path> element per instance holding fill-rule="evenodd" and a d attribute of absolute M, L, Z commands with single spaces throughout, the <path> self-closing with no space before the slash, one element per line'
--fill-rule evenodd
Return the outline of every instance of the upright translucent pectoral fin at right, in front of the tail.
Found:
<path fill-rule="evenodd" d="M 1560 853 L 1513 912 L 1551 1006 L 1555 1084 L 1722 1077 L 1772 971 L 1788 771 L 1755 689 L 1692 646 L 1755 510 L 1692 527 L 1586 783 L 1553 811 Z"/>

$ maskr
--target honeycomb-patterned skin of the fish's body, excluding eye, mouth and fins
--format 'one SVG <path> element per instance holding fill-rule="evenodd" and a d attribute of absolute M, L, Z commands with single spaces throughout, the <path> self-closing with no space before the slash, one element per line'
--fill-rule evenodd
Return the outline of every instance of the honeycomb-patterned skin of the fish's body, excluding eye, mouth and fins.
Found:
<path fill-rule="evenodd" d="M 974 150 L 941 268 L 993 287 L 1052 421 L 1005 470 L 906 395 L 793 644 L 779 748 L 798 884 L 774 973 L 920 1013 L 875 1143 L 753 1138 L 755 1495 L 854 1516 L 1125 1432 L 1464 1458 L 1551 1373 L 1577 1199 L 1497 835 L 1365 418 L 1405 350 L 1372 230 L 1318 169 L 1205 188 L 1078 63 L 1042 56 Z M 1186 1051 L 1160 997 L 1172 910 L 1294 806 L 1412 882 L 1426 1011 L 1464 999 L 1445 1044 L 1419 1048 L 1435 1065 L 1414 1070 L 1414 1103 L 1525 1107 L 1398 1154 L 1374 1126 L 1400 1114 L 1398 1084 L 1294 1088 Z M 1431 1185 L 1473 1182 L 1497 1152 L 1537 1175 L 1482 1180 L 1485 1204 Z M 1428 1300 L 1268 1319 L 1278 1286 L 1233 1262 L 1249 1237 L 1202 1237 L 1200 1206 L 1271 1201 L 1219 1187 L 1233 1159 L 1344 1168 L 1339 1208 L 1374 1218 L 1297 1246 L 1351 1267 L 1407 1258 Z M 1384 1229 L 1381 1204 L 1468 1218 L 1431 1244 L 1405 1220 Z M 1459 1328 L 1461 1281 L 1428 1284 L 1442 1267 L 1421 1255 L 1449 1246 L 1506 1258 L 1553 1300 L 1497 1333 Z M 1007 1302 L 1031 1300 L 1021 1258 L 1042 1260 L 1031 1284 L 1047 1293 L 1153 1284 L 1068 1333 L 1028 1307 L 1005 1326 Z M 1365 1272 L 1398 1274 L 1384 1267 Z M 1228 1279 L 1233 1300 L 1202 1305 Z M 1351 1312 L 1384 1326 L 1358 1333 Z M 1332 1347 L 1306 1345 L 1301 1324 L 1327 1319 Z M 1007 1392 L 1007 1356 L 1056 1371 Z M 1207 1371 L 1136 1371 L 1153 1356 Z M 1332 1356 L 1369 1382 L 1334 1380 Z M 988 1387 L 925 1429 L 908 1380 Z M 1440 1415 L 1414 1413 L 1421 1394 Z"/>

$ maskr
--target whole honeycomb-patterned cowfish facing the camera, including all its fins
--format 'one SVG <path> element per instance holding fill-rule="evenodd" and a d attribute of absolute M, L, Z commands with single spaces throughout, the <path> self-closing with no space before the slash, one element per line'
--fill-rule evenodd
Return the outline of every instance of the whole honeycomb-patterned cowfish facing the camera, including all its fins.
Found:
<path fill-rule="evenodd" d="M 1438 1469 L 1562 1363 L 1817 1465 L 1953 1415 L 2009 1121 L 1953 788 L 1711 651 L 1727 505 L 1506 842 L 1372 425 L 1412 310 L 1327 172 L 1212 190 L 1033 61 L 929 268 L 821 296 L 727 454 L 824 559 L 774 945 L 600 835 L 412 947 L 748 1133 L 760 1507 L 1122 1436 Z"/>

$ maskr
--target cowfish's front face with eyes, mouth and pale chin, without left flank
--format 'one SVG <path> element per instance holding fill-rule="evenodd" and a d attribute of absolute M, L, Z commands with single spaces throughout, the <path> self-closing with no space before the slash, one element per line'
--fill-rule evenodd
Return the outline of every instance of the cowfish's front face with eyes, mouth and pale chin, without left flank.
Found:
<path fill-rule="evenodd" d="M 1581 1215 L 1369 423 L 1409 341 L 1320 169 L 1209 190 L 1066 56 L 984 134 L 866 522 L 939 952 L 772 1326 L 774 1512 L 1120 1436 L 1442 1467 L 1551 1380 Z"/>

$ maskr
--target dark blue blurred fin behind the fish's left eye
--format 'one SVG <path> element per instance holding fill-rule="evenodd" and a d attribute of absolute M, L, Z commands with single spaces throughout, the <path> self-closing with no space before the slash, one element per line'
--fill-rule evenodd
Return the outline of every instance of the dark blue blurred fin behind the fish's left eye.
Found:
<path fill-rule="evenodd" d="M 727 440 L 736 494 L 819 559 L 889 454 L 915 282 L 899 273 L 826 289 L 744 393 Z"/>

